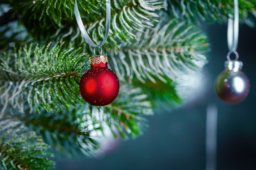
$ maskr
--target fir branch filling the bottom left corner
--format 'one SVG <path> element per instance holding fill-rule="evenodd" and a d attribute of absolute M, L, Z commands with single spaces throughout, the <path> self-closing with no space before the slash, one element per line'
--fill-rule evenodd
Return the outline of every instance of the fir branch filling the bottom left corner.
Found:
<path fill-rule="evenodd" d="M 53 169 L 54 162 L 47 157 L 48 145 L 29 132 L 18 120 L 0 119 L 0 169 L 1 170 L 45 170 Z"/>

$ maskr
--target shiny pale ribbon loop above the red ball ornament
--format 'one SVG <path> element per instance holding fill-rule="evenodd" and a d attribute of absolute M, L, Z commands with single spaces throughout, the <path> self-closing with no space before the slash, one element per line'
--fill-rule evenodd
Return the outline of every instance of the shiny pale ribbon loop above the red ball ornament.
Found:
<path fill-rule="evenodd" d="M 103 39 L 103 41 L 101 42 L 100 45 L 96 45 L 92 39 L 89 37 L 85 27 L 84 27 L 84 24 L 83 24 L 83 21 L 81 19 L 81 16 L 79 14 L 79 10 L 78 10 L 78 7 L 77 7 L 77 2 L 75 0 L 75 9 L 74 9 L 74 13 L 75 13 L 75 17 L 76 17 L 76 22 L 78 24 L 78 27 L 85 39 L 86 42 L 88 42 L 88 44 L 90 44 L 91 46 L 93 46 L 94 48 L 97 48 L 97 47 L 102 47 L 105 42 L 107 41 L 108 39 L 108 33 L 109 33 L 109 29 L 110 29 L 110 17 L 111 17 L 111 6 L 110 6 L 110 0 L 106 0 L 106 32 L 105 32 L 105 37 Z"/>

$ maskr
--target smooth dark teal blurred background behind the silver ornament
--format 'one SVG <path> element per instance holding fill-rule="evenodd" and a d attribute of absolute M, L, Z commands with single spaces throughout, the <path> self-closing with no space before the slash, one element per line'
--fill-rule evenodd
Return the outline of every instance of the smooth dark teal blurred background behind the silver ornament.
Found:
<path fill-rule="evenodd" d="M 157 109 L 147 117 L 148 128 L 136 139 L 110 140 L 102 152 L 79 161 L 57 161 L 57 170 L 205 170 L 206 113 L 209 105 L 218 109 L 216 170 L 256 170 L 256 28 L 240 24 L 238 53 L 251 89 L 236 105 L 218 99 L 214 82 L 224 70 L 228 52 L 227 25 L 205 24 L 209 37 L 209 63 L 198 84 L 184 95 L 184 105 L 175 110 Z M 212 169 L 213 170 L 213 169 Z"/>

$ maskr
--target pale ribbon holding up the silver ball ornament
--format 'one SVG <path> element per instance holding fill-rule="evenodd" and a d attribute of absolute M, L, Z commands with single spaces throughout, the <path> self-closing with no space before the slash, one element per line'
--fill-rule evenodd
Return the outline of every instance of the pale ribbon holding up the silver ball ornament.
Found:
<path fill-rule="evenodd" d="M 227 44 L 230 52 L 236 52 L 239 33 L 238 0 L 234 0 L 234 15 L 229 14 L 227 24 Z M 237 53 L 237 52 L 236 52 Z"/>

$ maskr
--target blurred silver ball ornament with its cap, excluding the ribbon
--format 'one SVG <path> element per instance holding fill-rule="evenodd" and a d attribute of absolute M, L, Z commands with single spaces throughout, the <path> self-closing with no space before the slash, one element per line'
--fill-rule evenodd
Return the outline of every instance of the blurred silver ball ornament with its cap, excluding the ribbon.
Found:
<path fill-rule="evenodd" d="M 242 61 L 226 61 L 225 70 L 217 77 L 215 90 L 224 102 L 236 104 L 242 102 L 249 94 L 249 79 L 241 71 L 242 68 Z"/>

